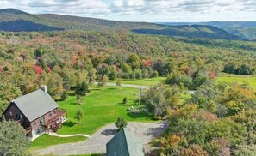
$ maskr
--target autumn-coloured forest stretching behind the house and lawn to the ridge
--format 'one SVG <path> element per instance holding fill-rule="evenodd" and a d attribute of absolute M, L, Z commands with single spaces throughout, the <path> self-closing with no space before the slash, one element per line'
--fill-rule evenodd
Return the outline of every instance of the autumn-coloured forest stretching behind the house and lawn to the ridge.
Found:
<path fill-rule="evenodd" d="M 65 31 L 1 33 L 0 105 L 41 84 L 54 99 L 78 81 L 103 76 L 140 79 L 168 75 L 170 84 L 195 89 L 222 72 L 253 75 L 256 43 L 170 38 L 132 33 Z"/>

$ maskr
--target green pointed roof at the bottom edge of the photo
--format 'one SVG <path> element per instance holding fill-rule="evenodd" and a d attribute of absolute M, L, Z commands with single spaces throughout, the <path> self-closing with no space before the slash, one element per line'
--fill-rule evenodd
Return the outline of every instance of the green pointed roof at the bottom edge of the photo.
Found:
<path fill-rule="evenodd" d="M 142 143 L 123 128 L 107 143 L 107 156 L 144 156 Z"/>

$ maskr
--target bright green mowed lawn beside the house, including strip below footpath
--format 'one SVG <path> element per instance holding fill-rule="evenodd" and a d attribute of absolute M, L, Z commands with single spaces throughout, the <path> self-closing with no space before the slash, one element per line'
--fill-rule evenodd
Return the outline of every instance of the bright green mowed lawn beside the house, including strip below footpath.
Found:
<path fill-rule="evenodd" d="M 127 97 L 127 105 L 122 104 L 122 99 Z M 153 115 L 132 114 L 127 109 L 130 106 L 136 107 L 136 100 L 139 97 L 139 91 L 136 88 L 129 87 L 91 87 L 91 93 L 83 99 L 83 104 L 78 105 L 74 93 L 65 101 L 59 101 L 59 108 L 67 110 L 68 120 L 63 123 L 58 134 L 73 135 L 85 134 L 92 135 L 97 129 L 108 123 L 115 123 L 117 117 L 124 117 L 126 121 L 153 122 Z M 140 105 L 140 107 L 143 105 Z M 84 113 L 84 118 L 78 123 L 75 119 L 76 112 L 80 110 Z M 84 137 L 59 138 L 50 135 L 42 135 L 35 141 L 32 141 L 33 149 L 48 147 L 60 143 L 84 141 Z"/>

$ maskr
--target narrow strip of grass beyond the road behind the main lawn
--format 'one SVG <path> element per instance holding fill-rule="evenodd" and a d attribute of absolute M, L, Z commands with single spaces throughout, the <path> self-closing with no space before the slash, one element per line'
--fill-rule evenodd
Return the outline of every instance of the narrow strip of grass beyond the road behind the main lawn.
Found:
<path fill-rule="evenodd" d="M 132 85 L 141 85 L 141 86 L 151 86 L 157 83 L 164 82 L 166 77 L 156 77 L 156 78 L 148 78 L 148 79 L 140 79 L 140 80 L 124 80 L 123 84 L 132 84 Z M 116 82 L 116 81 L 112 81 Z"/>

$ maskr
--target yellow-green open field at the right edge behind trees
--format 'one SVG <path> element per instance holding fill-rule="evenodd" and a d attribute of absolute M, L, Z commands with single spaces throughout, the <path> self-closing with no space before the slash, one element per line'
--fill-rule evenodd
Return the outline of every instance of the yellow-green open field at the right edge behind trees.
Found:
<path fill-rule="evenodd" d="M 256 90 L 256 76 L 238 76 L 238 75 L 230 75 L 230 76 L 222 76 L 218 77 L 217 81 L 226 81 L 226 82 L 237 82 L 239 84 L 247 81 L 254 90 Z"/>

